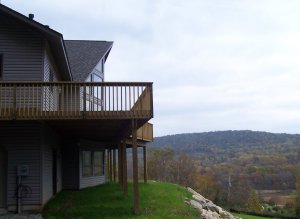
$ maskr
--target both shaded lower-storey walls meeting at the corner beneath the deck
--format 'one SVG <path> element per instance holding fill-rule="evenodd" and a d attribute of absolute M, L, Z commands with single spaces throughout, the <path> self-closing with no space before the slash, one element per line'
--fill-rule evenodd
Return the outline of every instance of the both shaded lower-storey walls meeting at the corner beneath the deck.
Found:
<path fill-rule="evenodd" d="M 28 165 L 22 184 L 31 191 L 22 199 L 23 209 L 40 209 L 53 196 L 53 150 L 57 152 L 57 192 L 62 190 L 59 139 L 46 125 L 33 122 L 0 124 L 0 142 L 7 151 L 7 206 L 16 210 L 17 166 Z"/>

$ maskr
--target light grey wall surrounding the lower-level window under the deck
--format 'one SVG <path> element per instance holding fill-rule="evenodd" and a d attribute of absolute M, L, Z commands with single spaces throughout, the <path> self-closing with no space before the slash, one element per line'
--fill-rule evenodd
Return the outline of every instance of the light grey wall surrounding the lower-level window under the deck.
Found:
<path fill-rule="evenodd" d="M 90 150 L 90 151 L 103 151 L 105 148 L 102 146 L 99 146 L 95 142 L 81 142 L 80 143 L 80 149 L 79 149 L 79 188 L 86 188 L 90 186 L 96 186 L 100 184 L 106 183 L 106 159 L 104 156 L 104 175 L 102 176 L 91 176 L 91 177 L 83 177 L 82 176 L 82 151 L 84 150 Z"/>

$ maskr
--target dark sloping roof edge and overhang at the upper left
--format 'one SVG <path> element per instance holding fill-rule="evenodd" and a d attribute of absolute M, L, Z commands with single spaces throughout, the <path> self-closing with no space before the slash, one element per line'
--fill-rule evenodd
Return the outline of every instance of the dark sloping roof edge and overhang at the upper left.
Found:
<path fill-rule="evenodd" d="M 4 14 L 6 17 L 16 20 L 17 22 L 21 22 L 28 27 L 33 28 L 37 32 L 39 32 L 43 37 L 45 37 L 52 49 L 53 56 L 58 63 L 58 69 L 61 73 L 64 80 L 72 80 L 71 70 L 68 62 L 68 58 L 66 55 L 63 36 L 61 33 L 52 30 L 46 25 L 43 25 L 39 22 L 36 22 L 33 19 L 30 19 L 19 12 L 16 12 L 0 3 L 0 13 Z"/>

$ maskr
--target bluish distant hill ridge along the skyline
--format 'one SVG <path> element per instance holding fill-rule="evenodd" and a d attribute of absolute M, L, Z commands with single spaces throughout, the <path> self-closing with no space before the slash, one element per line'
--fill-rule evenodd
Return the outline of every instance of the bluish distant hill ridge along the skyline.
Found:
<path fill-rule="evenodd" d="M 171 147 L 176 150 L 193 153 L 204 148 L 270 148 L 274 145 L 286 147 L 299 146 L 299 134 L 275 134 L 258 131 L 216 131 L 167 135 L 154 138 L 150 147 Z"/>

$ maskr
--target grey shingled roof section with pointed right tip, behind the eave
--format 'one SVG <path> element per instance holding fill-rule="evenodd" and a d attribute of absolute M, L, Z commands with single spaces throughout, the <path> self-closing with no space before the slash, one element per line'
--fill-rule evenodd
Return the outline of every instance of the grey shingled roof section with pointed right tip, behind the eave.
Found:
<path fill-rule="evenodd" d="M 65 40 L 68 60 L 74 81 L 85 81 L 99 61 L 107 56 L 113 42 Z"/>

